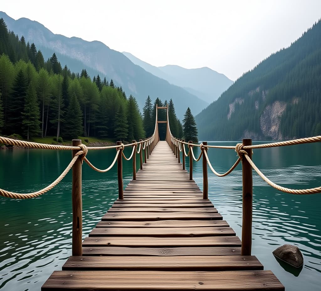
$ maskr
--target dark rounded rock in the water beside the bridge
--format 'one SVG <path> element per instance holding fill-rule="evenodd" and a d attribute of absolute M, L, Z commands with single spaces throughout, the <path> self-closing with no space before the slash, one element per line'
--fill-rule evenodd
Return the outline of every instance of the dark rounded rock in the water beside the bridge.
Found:
<path fill-rule="evenodd" d="M 302 253 L 295 245 L 284 244 L 274 250 L 273 255 L 296 268 L 299 268 L 303 265 Z"/>

